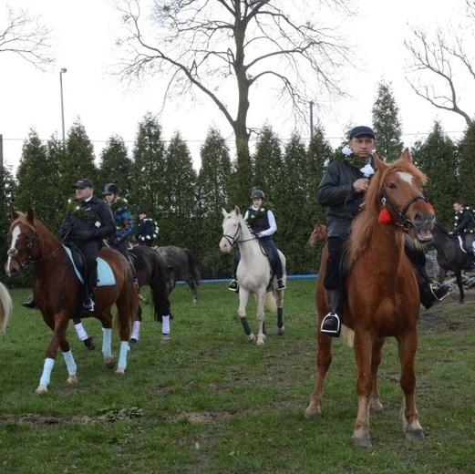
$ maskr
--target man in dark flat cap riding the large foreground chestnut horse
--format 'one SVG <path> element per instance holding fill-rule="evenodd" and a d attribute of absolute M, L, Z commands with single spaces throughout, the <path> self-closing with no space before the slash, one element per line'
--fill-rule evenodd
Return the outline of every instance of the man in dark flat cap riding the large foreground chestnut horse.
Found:
<path fill-rule="evenodd" d="M 373 129 L 359 125 L 349 132 L 348 145 L 342 150 L 345 157 L 333 160 L 316 190 L 318 203 L 328 208 L 326 237 L 328 260 L 324 287 L 330 312 L 325 315 L 320 332 L 338 337 L 342 325 L 343 283 L 340 262 L 348 236 L 348 230 L 360 211 L 367 192 L 369 180 L 374 174 L 375 163 L 372 151 L 376 149 L 376 134 Z M 398 158 L 398 157 L 394 157 Z M 425 269 L 425 254 L 413 248 L 407 253 L 417 268 L 421 303 L 429 308 L 441 301 L 449 292 L 447 286 L 432 288 Z M 437 283 L 436 283 L 437 284 Z"/>

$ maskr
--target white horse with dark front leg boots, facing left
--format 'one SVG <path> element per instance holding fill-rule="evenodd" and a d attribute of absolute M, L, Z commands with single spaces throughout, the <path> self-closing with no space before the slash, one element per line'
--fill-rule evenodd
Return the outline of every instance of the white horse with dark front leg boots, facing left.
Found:
<path fill-rule="evenodd" d="M 265 254 L 259 239 L 251 232 L 244 221 L 241 211 L 236 206 L 234 211 L 222 210 L 222 239 L 220 249 L 223 253 L 231 252 L 232 245 L 237 243 L 241 251 L 241 260 L 237 267 L 236 277 L 239 282 L 239 317 L 243 324 L 247 340 L 256 345 L 263 345 L 265 341 L 264 305 L 272 312 L 277 313 L 277 334 L 284 335 L 284 291 L 274 291 L 277 288 L 277 279 L 272 274 L 269 259 Z M 279 251 L 284 268 L 285 282 L 285 257 Z M 246 304 L 249 294 L 254 294 L 257 304 L 257 320 L 259 333 L 257 339 L 251 332 L 246 318 Z M 275 300 L 275 296 L 277 300 Z"/>

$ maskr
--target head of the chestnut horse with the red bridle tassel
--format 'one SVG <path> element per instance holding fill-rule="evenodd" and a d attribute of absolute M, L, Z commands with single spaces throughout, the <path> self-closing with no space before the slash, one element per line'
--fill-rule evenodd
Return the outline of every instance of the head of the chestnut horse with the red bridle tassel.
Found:
<path fill-rule="evenodd" d="M 431 241 L 435 214 L 422 190 L 428 178 L 412 164 L 408 149 L 391 163 L 375 153 L 375 163 L 378 172 L 371 180 L 365 207 L 378 216 L 379 223 L 393 223 L 405 232 L 414 232 L 418 242 Z"/>

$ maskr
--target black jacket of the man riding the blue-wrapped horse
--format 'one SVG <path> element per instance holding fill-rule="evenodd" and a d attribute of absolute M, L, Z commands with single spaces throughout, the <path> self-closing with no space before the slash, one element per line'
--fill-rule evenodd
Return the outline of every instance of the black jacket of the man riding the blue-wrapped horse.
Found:
<path fill-rule="evenodd" d="M 76 213 L 67 211 L 57 231 L 59 238 L 71 242 L 87 240 L 101 242 L 115 232 L 116 224 L 106 202 L 100 201 L 96 196 L 93 196 L 88 202 L 77 201 L 77 203 L 88 214 L 91 214 L 96 219 L 96 222 L 92 224 L 79 217 Z"/>

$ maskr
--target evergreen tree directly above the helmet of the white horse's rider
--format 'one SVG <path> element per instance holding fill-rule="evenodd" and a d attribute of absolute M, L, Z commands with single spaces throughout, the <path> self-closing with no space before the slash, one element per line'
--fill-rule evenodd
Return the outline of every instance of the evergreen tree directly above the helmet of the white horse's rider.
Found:
<path fill-rule="evenodd" d="M 265 125 L 256 141 L 253 154 L 252 186 L 247 188 L 246 203 L 253 188 L 262 190 L 265 196 L 274 201 L 274 197 L 284 191 L 282 182 L 283 156 L 280 139 L 269 125 Z"/>

